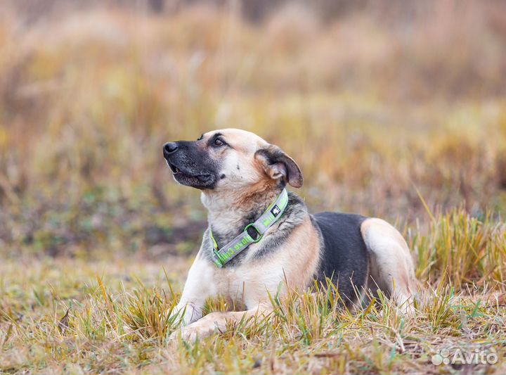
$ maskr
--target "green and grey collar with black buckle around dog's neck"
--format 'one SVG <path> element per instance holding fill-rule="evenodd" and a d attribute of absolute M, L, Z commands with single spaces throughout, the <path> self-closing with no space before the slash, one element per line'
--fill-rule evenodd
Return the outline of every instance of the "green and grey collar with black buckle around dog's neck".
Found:
<path fill-rule="evenodd" d="M 223 267 L 226 262 L 230 261 L 235 255 L 238 255 L 242 250 L 247 248 L 252 243 L 257 243 L 262 239 L 264 233 L 273 226 L 275 222 L 283 216 L 285 208 L 288 205 L 288 193 L 286 189 L 280 193 L 271 205 L 268 206 L 267 210 L 258 218 L 257 221 L 247 224 L 244 231 L 239 236 L 235 237 L 232 241 L 227 243 L 222 248 L 218 247 L 218 243 L 212 235 L 211 227 L 209 227 L 209 238 L 213 244 L 213 261 L 218 267 Z M 252 227 L 256 232 L 257 236 L 255 239 L 248 233 L 248 229 Z"/>

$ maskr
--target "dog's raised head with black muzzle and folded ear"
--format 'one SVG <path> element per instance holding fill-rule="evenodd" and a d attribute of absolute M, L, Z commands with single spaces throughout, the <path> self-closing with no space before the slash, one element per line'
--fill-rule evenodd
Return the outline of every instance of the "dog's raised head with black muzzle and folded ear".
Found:
<path fill-rule="evenodd" d="M 179 184 L 201 190 L 302 186 L 301 170 L 290 156 L 245 130 L 222 129 L 196 141 L 169 142 L 163 154 Z"/>

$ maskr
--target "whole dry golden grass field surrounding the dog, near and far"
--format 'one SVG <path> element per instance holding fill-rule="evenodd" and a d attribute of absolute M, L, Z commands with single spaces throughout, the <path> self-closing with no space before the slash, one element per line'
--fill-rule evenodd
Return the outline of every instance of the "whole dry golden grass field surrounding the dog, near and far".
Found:
<path fill-rule="evenodd" d="M 503 4 L 364 3 L 323 18 L 290 2 L 255 23 L 233 5 L 6 4 L 0 374 L 506 371 Z M 161 146 L 221 127 L 297 160 L 313 212 L 395 224 L 417 265 L 417 313 L 292 293 L 269 319 L 168 342 L 160 312 L 206 212 Z M 458 348 L 497 362 L 433 363 Z"/>

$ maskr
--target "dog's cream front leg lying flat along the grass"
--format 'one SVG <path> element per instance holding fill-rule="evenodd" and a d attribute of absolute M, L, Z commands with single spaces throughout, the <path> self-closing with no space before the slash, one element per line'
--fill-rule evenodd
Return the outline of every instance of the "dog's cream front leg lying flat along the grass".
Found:
<path fill-rule="evenodd" d="M 197 322 L 181 328 L 171 334 L 170 339 L 176 339 L 181 335 L 184 341 L 195 341 L 197 338 L 204 338 L 214 332 L 225 332 L 227 324 L 238 324 L 243 319 L 265 318 L 272 311 L 268 303 L 259 304 L 251 310 L 240 312 L 212 312 Z"/>

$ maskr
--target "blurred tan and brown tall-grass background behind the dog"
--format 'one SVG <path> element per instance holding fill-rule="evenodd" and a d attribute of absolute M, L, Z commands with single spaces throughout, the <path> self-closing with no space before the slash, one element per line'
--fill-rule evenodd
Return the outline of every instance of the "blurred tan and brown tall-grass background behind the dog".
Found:
<path fill-rule="evenodd" d="M 311 210 L 500 220 L 506 2 L 3 0 L 0 256 L 195 253 L 162 144 L 221 127 L 292 155 Z"/>

